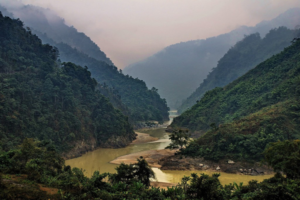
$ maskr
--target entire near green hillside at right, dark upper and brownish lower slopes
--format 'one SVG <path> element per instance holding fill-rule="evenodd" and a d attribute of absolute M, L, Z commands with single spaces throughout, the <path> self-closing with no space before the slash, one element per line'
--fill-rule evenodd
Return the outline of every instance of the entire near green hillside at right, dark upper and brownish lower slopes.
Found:
<path fill-rule="evenodd" d="M 206 92 L 176 117 L 168 129 L 183 127 L 202 135 L 182 154 L 259 161 L 269 143 L 300 138 L 299 49 L 300 41 L 293 40 L 232 83 Z"/>

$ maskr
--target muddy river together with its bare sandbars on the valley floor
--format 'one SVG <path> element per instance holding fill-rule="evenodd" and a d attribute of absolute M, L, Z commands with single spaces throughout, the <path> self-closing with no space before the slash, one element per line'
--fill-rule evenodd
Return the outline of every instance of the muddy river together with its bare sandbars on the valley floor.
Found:
<path fill-rule="evenodd" d="M 170 119 L 175 117 L 176 111 L 173 113 L 170 112 Z M 165 124 L 170 124 L 170 121 L 165 121 Z M 168 134 L 165 132 L 165 128 L 158 128 L 158 129 L 150 129 L 150 130 L 139 130 L 140 132 L 147 133 L 151 137 L 158 138 L 158 140 L 154 142 L 146 142 L 141 144 L 130 144 L 129 146 L 122 148 L 122 149 L 97 149 L 92 152 L 87 152 L 86 154 L 82 155 L 81 157 L 66 160 L 65 164 L 70 165 L 71 167 L 77 167 L 79 169 L 83 169 L 85 176 L 89 177 L 93 174 L 94 171 L 99 171 L 100 173 L 109 172 L 114 173 L 115 167 L 120 163 L 130 164 L 136 162 L 136 159 L 142 156 L 152 167 L 152 170 L 156 174 L 156 179 L 158 182 L 166 182 L 166 183 L 173 183 L 177 184 L 180 183 L 181 178 L 183 176 L 190 176 L 191 173 L 198 173 L 198 174 L 208 174 L 211 175 L 215 172 L 216 167 L 210 167 L 209 170 L 194 170 L 194 169 L 180 169 L 180 171 L 175 170 L 159 170 L 161 166 L 157 164 L 159 160 L 166 158 L 167 160 L 169 157 L 172 157 L 175 151 L 164 150 L 164 148 L 170 143 L 168 140 Z M 158 150 L 158 151 L 155 151 Z M 160 152 L 162 151 L 162 152 Z M 205 162 L 205 161 L 204 161 Z M 207 161 L 206 161 L 207 162 Z M 184 159 L 182 160 L 184 163 Z M 217 164 L 214 164 L 217 165 Z M 246 167 L 245 167 L 246 166 Z M 179 167 L 179 166 L 177 166 Z M 168 168 L 168 166 L 164 166 L 164 168 Z M 247 165 L 244 165 L 243 168 L 249 168 Z M 233 171 L 232 171 L 233 172 Z M 219 180 L 221 184 L 229 184 L 229 183 L 247 183 L 251 180 L 263 181 L 264 179 L 271 178 L 273 174 L 271 173 L 272 170 L 267 170 L 270 175 L 263 175 L 263 176 L 250 176 L 250 175 L 241 175 L 239 171 L 233 172 L 233 174 L 227 174 L 221 172 L 221 176 Z M 156 181 L 156 180 L 155 180 Z"/>

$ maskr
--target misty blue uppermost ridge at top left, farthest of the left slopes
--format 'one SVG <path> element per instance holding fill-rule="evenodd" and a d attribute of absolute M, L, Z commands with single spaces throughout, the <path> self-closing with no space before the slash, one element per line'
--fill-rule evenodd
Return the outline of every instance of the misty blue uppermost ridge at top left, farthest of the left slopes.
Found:
<path fill-rule="evenodd" d="M 5 7 L 5 9 L 13 14 L 14 18 L 20 18 L 25 26 L 36 30 L 37 32 L 34 33 L 38 37 L 40 37 L 40 34 L 46 33 L 55 42 L 66 43 L 90 57 L 113 65 L 105 53 L 88 36 L 83 32 L 78 32 L 73 26 L 67 26 L 64 19 L 57 16 L 52 10 L 39 6 L 24 5 L 15 0 L 12 1 L 13 3 L 11 4 L 13 6 L 3 2 L 4 4 L 0 8 L 3 9 Z M 3 15 L 5 14 L 3 13 Z"/>

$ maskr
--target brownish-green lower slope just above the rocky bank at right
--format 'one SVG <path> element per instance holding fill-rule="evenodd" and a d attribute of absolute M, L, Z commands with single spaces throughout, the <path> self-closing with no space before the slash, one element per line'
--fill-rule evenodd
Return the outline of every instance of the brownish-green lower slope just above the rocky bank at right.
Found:
<path fill-rule="evenodd" d="M 225 158 L 260 160 L 269 143 L 300 138 L 299 103 L 279 102 L 240 120 L 214 127 L 190 142 L 182 154 L 216 161 Z"/>

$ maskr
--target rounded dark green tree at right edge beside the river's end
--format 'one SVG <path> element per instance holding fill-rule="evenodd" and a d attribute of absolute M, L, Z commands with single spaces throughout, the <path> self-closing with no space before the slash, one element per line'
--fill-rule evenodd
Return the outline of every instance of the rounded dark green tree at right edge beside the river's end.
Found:
<path fill-rule="evenodd" d="M 300 178 L 300 140 L 271 143 L 263 154 L 276 173 L 283 172 L 287 179 Z"/>

